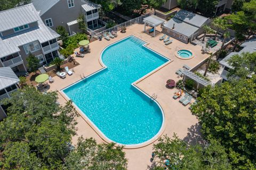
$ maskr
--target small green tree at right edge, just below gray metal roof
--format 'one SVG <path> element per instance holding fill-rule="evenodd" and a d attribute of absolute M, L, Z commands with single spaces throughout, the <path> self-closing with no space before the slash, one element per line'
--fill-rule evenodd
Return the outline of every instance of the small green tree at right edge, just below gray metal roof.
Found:
<path fill-rule="evenodd" d="M 229 71 L 229 77 L 238 76 L 240 78 L 246 78 L 253 72 L 256 72 L 256 52 L 233 55 L 228 60 L 228 63 L 233 68 Z"/>

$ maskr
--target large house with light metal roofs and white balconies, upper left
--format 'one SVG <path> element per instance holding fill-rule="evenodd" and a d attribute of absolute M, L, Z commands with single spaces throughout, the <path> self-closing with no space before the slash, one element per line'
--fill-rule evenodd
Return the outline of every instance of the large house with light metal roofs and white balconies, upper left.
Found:
<path fill-rule="evenodd" d="M 46 27 L 33 4 L 0 12 L 0 67 L 11 67 L 17 75 L 27 72 L 29 53 L 48 64 L 59 56 L 60 35 Z"/>

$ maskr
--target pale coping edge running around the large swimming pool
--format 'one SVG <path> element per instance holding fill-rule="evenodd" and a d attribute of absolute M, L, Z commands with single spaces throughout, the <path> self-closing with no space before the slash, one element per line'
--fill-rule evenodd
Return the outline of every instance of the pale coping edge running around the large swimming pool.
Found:
<path fill-rule="evenodd" d="M 131 83 L 131 85 L 132 85 L 134 88 L 136 88 L 138 91 L 140 91 L 141 93 L 143 93 L 144 95 L 146 95 L 149 99 L 151 99 L 151 96 L 150 96 L 149 94 L 147 94 L 145 91 L 141 90 L 141 88 L 139 88 L 136 84 L 138 84 L 139 82 L 141 82 L 143 79 L 146 79 L 146 78 L 149 77 L 150 75 L 154 74 L 156 71 L 158 71 L 158 70 L 162 69 L 163 67 L 167 66 L 167 65 L 170 64 L 173 60 L 171 60 L 171 59 L 167 58 L 166 56 L 164 56 L 164 55 L 162 55 L 162 54 L 160 54 L 160 53 L 158 53 L 158 52 L 152 50 L 151 48 L 147 47 L 146 45 L 148 45 L 149 43 L 143 41 L 142 39 L 140 39 L 140 38 L 138 38 L 138 37 L 136 37 L 136 36 L 134 36 L 134 35 L 132 35 L 132 34 L 129 35 L 129 36 L 127 36 L 127 37 L 125 37 L 125 38 L 119 39 L 117 42 L 111 43 L 111 44 L 107 45 L 105 48 L 103 48 L 103 50 L 101 51 L 100 56 L 99 56 L 99 63 L 101 64 L 102 68 L 99 69 L 99 70 L 97 70 L 97 71 L 95 71 L 95 72 L 93 72 L 93 73 L 90 74 L 89 76 L 86 76 L 85 78 L 82 78 L 82 79 L 80 79 L 80 80 L 78 80 L 78 81 L 76 81 L 76 82 L 74 82 L 74 83 L 72 83 L 72 84 L 70 84 L 70 85 L 68 85 L 68 86 L 66 86 L 66 87 L 64 87 L 64 88 L 62 88 L 62 89 L 60 90 L 61 96 L 62 96 L 63 98 L 65 98 L 65 100 L 67 100 L 67 99 L 70 100 L 69 97 L 67 96 L 67 94 L 66 94 L 65 92 L 63 92 L 66 88 L 69 88 L 70 86 L 73 86 L 73 85 L 75 85 L 75 84 L 77 84 L 77 83 L 79 83 L 79 82 L 81 82 L 81 81 L 83 81 L 83 80 L 86 80 L 86 78 L 91 77 L 91 76 L 97 74 L 98 72 L 107 69 L 108 67 L 107 67 L 107 66 L 103 63 L 103 61 L 102 61 L 102 54 L 103 54 L 103 52 L 104 52 L 109 46 L 115 45 L 116 43 L 119 43 L 119 42 L 123 41 L 124 39 L 130 38 L 130 37 L 137 38 L 137 39 L 139 39 L 139 41 L 144 42 L 145 44 L 142 45 L 143 47 L 146 47 L 148 50 L 150 50 L 150 51 L 152 51 L 152 52 L 154 52 L 154 53 L 156 53 L 156 54 L 162 56 L 163 58 L 165 58 L 165 59 L 167 60 L 167 62 L 165 62 L 165 63 L 162 64 L 161 66 L 157 67 L 156 69 L 150 71 L 150 72 L 149 72 L 148 74 L 146 74 L 145 76 L 142 76 L 141 78 L 139 78 L 139 79 L 136 80 L 135 82 Z M 67 100 L 67 101 L 68 101 L 68 100 Z M 78 111 L 77 111 L 78 114 L 79 114 L 79 115 L 85 120 L 85 122 L 93 129 L 93 131 L 94 131 L 95 133 L 97 133 L 97 134 L 100 136 L 100 138 L 101 138 L 103 141 L 105 141 L 105 142 L 107 142 L 107 143 L 114 142 L 114 143 L 116 143 L 116 145 L 122 145 L 122 146 L 124 147 L 124 149 L 138 149 L 138 148 L 146 147 L 147 145 L 149 145 L 149 144 L 151 144 L 151 143 L 154 143 L 154 142 L 163 134 L 164 129 L 165 129 L 165 127 L 166 127 L 166 124 L 165 124 L 165 113 L 164 113 L 163 108 L 161 107 L 161 104 L 159 104 L 158 101 L 155 100 L 155 99 L 151 99 L 151 100 L 154 101 L 154 102 L 157 104 L 157 106 L 161 109 L 162 117 L 163 117 L 163 122 L 162 122 L 161 128 L 159 129 L 159 131 L 157 132 L 157 134 L 156 134 L 155 136 L 153 136 L 151 139 L 149 139 L 149 140 L 146 141 L 146 142 L 142 142 L 142 143 L 138 143 L 138 144 L 122 144 L 122 143 L 118 143 L 118 142 L 115 142 L 115 141 L 109 139 L 109 138 L 108 138 L 103 132 L 101 132 L 101 130 L 92 122 L 92 120 L 91 120 L 89 117 L 87 117 L 86 114 L 85 114 L 81 109 L 79 109 L 79 107 L 78 107 L 74 102 L 72 102 L 72 104 L 73 104 L 73 105 L 75 106 L 75 108 L 78 110 Z"/>

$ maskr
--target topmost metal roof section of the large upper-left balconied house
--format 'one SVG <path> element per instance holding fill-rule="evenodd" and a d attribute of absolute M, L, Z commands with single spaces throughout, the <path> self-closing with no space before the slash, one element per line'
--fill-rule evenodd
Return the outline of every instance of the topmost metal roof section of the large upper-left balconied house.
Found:
<path fill-rule="evenodd" d="M 29 12 L 28 11 L 33 11 Z M 0 32 L 38 21 L 36 10 L 31 5 L 0 11 Z"/>

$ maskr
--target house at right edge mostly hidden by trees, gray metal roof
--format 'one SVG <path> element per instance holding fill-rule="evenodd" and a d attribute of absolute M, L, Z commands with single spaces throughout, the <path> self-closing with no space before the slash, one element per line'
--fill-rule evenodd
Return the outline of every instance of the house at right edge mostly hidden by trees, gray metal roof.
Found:
<path fill-rule="evenodd" d="M 228 63 L 228 60 L 231 58 L 233 55 L 240 55 L 242 53 L 253 53 L 256 52 L 256 38 L 251 38 L 249 41 L 244 42 L 241 47 L 243 49 L 239 52 L 231 52 L 228 54 L 224 59 L 220 61 L 220 64 L 224 67 L 223 71 L 221 72 L 220 77 L 223 78 L 223 80 L 228 80 L 227 75 L 229 74 L 229 70 L 232 69 L 230 64 Z"/>

